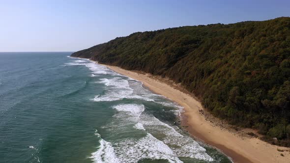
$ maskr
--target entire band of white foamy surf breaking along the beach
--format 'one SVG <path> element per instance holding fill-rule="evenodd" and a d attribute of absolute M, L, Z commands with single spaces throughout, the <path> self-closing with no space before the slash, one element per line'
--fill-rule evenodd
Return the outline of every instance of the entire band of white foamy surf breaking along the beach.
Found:
<path fill-rule="evenodd" d="M 176 115 L 180 115 L 183 111 L 183 107 L 177 103 L 166 101 L 166 97 L 154 94 L 145 89 L 142 82 L 119 75 L 105 66 L 91 61 L 87 63 L 76 60 L 71 63 L 86 64 L 89 70 L 92 71 L 93 75 L 91 76 L 95 76 L 95 74 L 113 76 L 113 78 L 102 78 L 96 81 L 103 83 L 108 89 L 105 90 L 104 94 L 97 95 L 91 99 L 93 101 L 118 101 L 124 98 L 140 99 L 152 101 L 165 107 L 176 108 L 172 110 Z M 99 134 L 95 134 L 101 140 L 99 149 L 92 154 L 94 162 L 131 163 L 143 159 L 165 159 L 169 162 L 178 163 L 181 162 L 178 157 L 194 158 L 209 162 L 213 161 L 198 142 L 191 137 L 180 134 L 177 127 L 170 126 L 152 114 L 145 112 L 144 105 L 119 104 L 112 108 L 117 111 L 113 116 L 115 120 L 102 128 L 115 134 L 125 134 L 130 133 L 133 127 L 136 131 L 142 130 L 143 134 L 145 132 L 146 135 L 139 139 L 125 138 L 120 141 L 107 142 Z"/>

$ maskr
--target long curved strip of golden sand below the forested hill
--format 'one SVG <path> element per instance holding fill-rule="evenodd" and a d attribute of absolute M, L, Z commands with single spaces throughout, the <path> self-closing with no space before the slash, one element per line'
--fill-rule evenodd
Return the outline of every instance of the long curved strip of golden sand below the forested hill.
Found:
<path fill-rule="evenodd" d="M 271 145 L 258 138 L 240 136 L 221 128 L 208 120 L 201 113 L 203 112 L 201 103 L 192 95 L 182 91 L 181 87 L 178 89 L 178 85 L 174 86 L 149 74 L 128 71 L 116 66 L 105 66 L 119 74 L 142 81 L 151 91 L 166 96 L 184 107 L 181 124 L 186 126 L 185 129 L 191 135 L 223 151 L 234 163 L 290 163 L 290 148 Z M 285 151 L 279 152 L 277 148 Z"/>

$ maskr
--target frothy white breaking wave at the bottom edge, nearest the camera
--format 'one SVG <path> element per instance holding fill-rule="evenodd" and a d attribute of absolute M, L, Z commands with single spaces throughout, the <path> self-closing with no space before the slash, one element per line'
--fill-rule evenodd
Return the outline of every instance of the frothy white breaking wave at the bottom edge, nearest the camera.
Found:
<path fill-rule="evenodd" d="M 101 137 L 97 130 L 95 135 Z M 137 141 L 129 138 L 108 142 L 101 138 L 99 143 L 97 151 L 89 157 L 94 163 L 137 163 L 143 159 L 182 163 L 170 147 L 148 133 Z"/>

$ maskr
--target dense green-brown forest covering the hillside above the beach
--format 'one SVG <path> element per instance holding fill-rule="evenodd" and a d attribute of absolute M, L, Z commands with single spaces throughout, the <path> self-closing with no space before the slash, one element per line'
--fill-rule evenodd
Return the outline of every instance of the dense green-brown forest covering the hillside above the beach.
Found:
<path fill-rule="evenodd" d="M 71 56 L 168 77 L 215 116 L 290 146 L 289 17 L 136 32 Z"/>

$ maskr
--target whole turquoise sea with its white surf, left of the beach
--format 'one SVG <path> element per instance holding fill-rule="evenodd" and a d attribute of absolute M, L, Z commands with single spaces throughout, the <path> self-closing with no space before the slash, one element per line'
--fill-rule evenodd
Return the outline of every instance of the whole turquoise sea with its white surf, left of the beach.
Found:
<path fill-rule="evenodd" d="M 71 53 L 0 53 L 0 163 L 229 163 L 182 108 Z"/>

